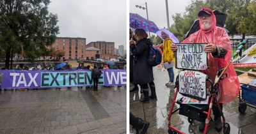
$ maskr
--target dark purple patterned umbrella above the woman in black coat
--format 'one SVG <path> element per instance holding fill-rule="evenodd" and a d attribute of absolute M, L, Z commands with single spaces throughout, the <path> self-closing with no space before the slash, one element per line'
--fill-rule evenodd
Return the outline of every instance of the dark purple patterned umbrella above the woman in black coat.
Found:
<path fill-rule="evenodd" d="M 130 27 L 144 29 L 152 33 L 156 33 L 159 30 L 154 22 L 141 17 L 137 13 L 130 13 Z"/>

